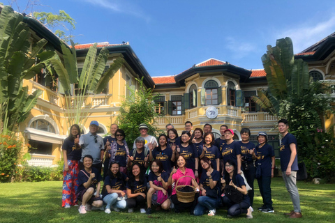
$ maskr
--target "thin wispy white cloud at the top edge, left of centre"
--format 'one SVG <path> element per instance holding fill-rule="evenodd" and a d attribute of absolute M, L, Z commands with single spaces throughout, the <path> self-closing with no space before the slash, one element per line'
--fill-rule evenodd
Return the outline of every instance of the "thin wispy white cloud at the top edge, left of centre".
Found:
<path fill-rule="evenodd" d="M 124 0 L 84 0 L 87 3 L 91 3 L 94 6 L 114 10 L 116 13 L 124 13 L 128 15 L 133 15 L 135 17 L 140 17 L 147 22 L 149 22 L 150 17 L 145 15 L 143 10 L 137 7 L 133 3 L 128 3 Z"/>

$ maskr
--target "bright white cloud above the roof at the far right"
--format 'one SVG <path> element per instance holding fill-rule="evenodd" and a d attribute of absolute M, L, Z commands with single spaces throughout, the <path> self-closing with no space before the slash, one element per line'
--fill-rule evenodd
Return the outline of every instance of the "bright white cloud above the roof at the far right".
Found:
<path fill-rule="evenodd" d="M 329 36 L 335 31 L 335 15 L 329 17 L 329 19 L 308 24 L 297 24 L 296 27 L 288 29 L 286 31 L 276 33 L 276 39 L 290 37 L 293 42 L 294 52 L 299 53 L 302 50 L 310 47 L 311 45 L 318 43 L 318 41 Z"/>

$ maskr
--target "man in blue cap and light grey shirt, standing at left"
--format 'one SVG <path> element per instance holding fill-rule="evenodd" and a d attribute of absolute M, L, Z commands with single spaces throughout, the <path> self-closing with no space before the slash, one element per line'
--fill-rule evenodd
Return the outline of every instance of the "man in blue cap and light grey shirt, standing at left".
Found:
<path fill-rule="evenodd" d="M 82 158 L 85 155 L 93 157 L 93 165 L 101 173 L 102 160 L 103 160 L 103 138 L 97 134 L 99 130 L 99 123 L 91 121 L 89 124 L 89 133 L 82 134 L 79 139 L 79 144 L 82 146 Z M 82 169 L 82 159 L 80 160 L 80 169 Z"/>

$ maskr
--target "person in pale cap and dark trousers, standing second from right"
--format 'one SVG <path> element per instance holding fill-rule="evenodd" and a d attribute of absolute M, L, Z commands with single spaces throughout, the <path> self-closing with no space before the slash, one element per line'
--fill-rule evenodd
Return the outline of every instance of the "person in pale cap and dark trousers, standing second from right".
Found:
<path fill-rule="evenodd" d="M 255 155 L 256 169 L 260 168 L 260 177 L 258 180 L 258 187 L 260 187 L 260 194 L 263 199 L 263 206 L 258 208 L 262 213 L 274 213 L 271 199 L 271 178 L 274 177 L 274 148 L 267 144 L 267 134 L 265 132 L 258 132 L 258 143 L 256 146 Z M 256 170 L 257 173 L 257 170 Z M 257 174 L 256 174 L 257 176 Z"/>

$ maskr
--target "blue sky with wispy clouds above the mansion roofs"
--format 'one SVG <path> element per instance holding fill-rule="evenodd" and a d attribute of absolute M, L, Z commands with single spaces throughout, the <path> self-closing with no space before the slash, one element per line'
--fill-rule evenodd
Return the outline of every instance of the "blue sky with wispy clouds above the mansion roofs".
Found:
<path fill-rule="evenodd" d="M 18 3 L 23 10 L 27 0 Z M 335 31 L 332 0 L 40 0 L 38 4 L 43 6 L 34 10 L 65 10 L 73 17 L 77 43 L 129 42 L 151 77 L 177 75 L 210 58 L 258 69 L 267 45 L 276 45 L 278 38 L 292 38 L 298 53 Z"/>

